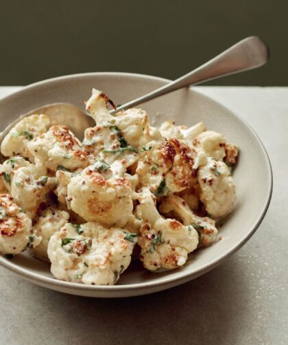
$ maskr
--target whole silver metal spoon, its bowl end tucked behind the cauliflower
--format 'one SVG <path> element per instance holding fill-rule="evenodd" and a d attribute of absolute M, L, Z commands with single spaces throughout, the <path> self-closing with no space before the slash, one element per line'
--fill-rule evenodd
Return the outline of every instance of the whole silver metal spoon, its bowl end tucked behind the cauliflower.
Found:
<path fill-rule="evenodd" d="M 211 79 L 260 67 L 267 62 L 268 58 L 269 49 L 259 37 L 251 36 L 245 38 L 188 74 L 185 74 L 184 76 L 169 82 L 169 84 L 149 92 L 144 96 L 136 98 L 136 100 L 132 100 L 121 105 L 116 110 L 111 111 L 111 113 L 115 113 L 121 109 L 134 107 L 138 104 L 147 102 L 148 100 L 165 95 L 171 91 L 181 89 L 182 87 L 200 84 L 201 82 L 206 82 Z M 94 120 L 87 116 L 88 114 L 85 111 L 75 107 L 73 104 L 47 104 L 44 107 L 29 111 L 29 113 L 22 115 L 20 118 L 12 122 L 12 124 L 7 126 L 0 134 L 0 142 L 3 140 L 3 137 L 8 134 L 10 129 L 12 129 L 21 119 L 32 114 L 40 113 L 48 115 L 51 119 L 51 124 L 63 124 L 69 126 L 69 129 L 71 129 L 75 136 L 80 140 L 83 139 L 84 130 L 86 128 L 95 126 Z"/>

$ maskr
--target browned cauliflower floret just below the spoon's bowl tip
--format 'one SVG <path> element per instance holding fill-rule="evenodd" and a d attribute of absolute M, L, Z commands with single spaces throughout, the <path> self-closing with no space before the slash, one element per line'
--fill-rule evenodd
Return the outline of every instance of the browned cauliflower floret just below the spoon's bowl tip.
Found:
<path fill-rule="evenodd" d="M 59 167 L 76 170 L 89 164 L 82 144 L 66 126 L 52 126 L 27 146 L 35 159 L 53 171 Z"/>

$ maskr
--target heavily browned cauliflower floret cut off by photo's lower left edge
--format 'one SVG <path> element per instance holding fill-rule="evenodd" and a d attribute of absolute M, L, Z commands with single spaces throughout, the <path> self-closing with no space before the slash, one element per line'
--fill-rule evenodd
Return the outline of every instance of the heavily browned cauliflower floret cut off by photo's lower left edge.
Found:
<path fill-rule="evenodd" d="M 38 245 L 40 239 L 33 233 L 31 219 L 12 195 L 0 194 L 0 254 L 19 254 L 27 245 Z"/>

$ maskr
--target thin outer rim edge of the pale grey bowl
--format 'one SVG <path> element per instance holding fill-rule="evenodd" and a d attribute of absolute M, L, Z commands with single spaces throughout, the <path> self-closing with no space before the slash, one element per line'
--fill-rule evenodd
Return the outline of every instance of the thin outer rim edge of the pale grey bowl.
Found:
<path fill-rule="evenodd" d="M 58 76 L 55 78 L 49 78 L 45 80 L 40 80 L 38 82 L 34 82 L 30 85 L 27 85 L 23 87 L 21 90 L 16 91 L 4 98 L 1 98 L 0 104 L 5 100 L 9 100 L 9 98 L 15 97 L 17 94 L 22 93 L 25 90 L 29 89 L 34 89 L 35 87 L 38 87 L 40 85 L 49 83 L 49 82 L 54 82 L 58 80 L 69 80 L 69 78 L 77 78 L 77 77 L 84 77 L 84 76 L 129 76 L 129 77 L 138 77 L 138 78 L 145 78 L 149 80 L 158 80 L 160 82 L 171 82 L 171 80 L 166 79 L 166 78 L 160 78 L 157 76 L 149 76 L 147 74 L 134 74 L 134 73 L 128 73 L 128 72 L 112 72 L 112 71 L 106 71 L 106 72 L 87 72 L 87 73 L 80 73 L 80 74 L 69 74 L 66 76 Z M 169 283 L 175 283 L 175 285 L 180 284 L 181 282 L 188 281 L 190 280 L 189 278 L 193 279 L 196 278 L 197 276 L 200 276 L 201 274 L 204 274 L 220 263 L 222 263 L 228 256 L 231 256 L 235 252 L 237 252 L 238 249 L 240 249 L 248 240 L 249 238 L 256 232 L 258 229 L 259 225 L 263 221 L 263 218 L 269 208 L 269 203 L 272 198 L 272 190 L 273 190 L 273 173 L 272 173 L 272 166 L 271 162 L 269 160 L 269 156 L 267 154 L 267 151 L 265 149 L 265 146 L 261 142 L 259 136 L 256 134 L 254 129 L 252 129 L 252 126 L 246 122 L 241 116 L 238 115 L 238 113 L 235 113 L 234 111 L 230 111 L 230 109 L 226 108 L 224 105 L 221 103 L 217 102 L 217 100 L 214 100 L 213 98 L 210 98 L 209 96 L 204 95 L 203 93 L 199 91 L 195 91 L 193 89 L 194 93 L 200 94 L 201 96 L 204 96 L 206 99 L 211 100 L 215 102 L 216 104 L 219 104 L 221 107 L 226 109 L 232 117 L 238 118 L 243 122 L 243 124 L 247 127 L 248 131 L 250 131 L 253 135 L 255 140 L 258 142 L 259 147 L 262 149 L 263 157 L 265 157 L 265 166 L 267 168 L 267 175 L 268 175 L 268 184 L 269 184 L 269 189 L 267 190 L 267 195 L 265 198 L 265 207 L 259 214 L 258 219 L 254 222 L 254 224 L 250 227 L 250 230 L 247 232 L 241 240 L 236 243 L 233 247 L 230 249 L 226 250 L 224 254 L 221 254 L 221 256 L 217 256 L 214 260 L 211 260 L 210 262 L 202 265 L 198 269 L 195 269 L 194 271 L 177 271 L 177 276 L 171 274 L 169 276 L 164 276 L 161 278 L 160 281 L 155 282 L 153 280 L 149 280 L 147 282 L 139 282 L 139 283 L 132 283 L 132 284 L 125 284 L 125 285 L 84 285 L 80 284 L 77 282 L 67 282 L 64 280 L 58 280 L 54 277 L 48 277 L 48 276 L 43 276 L 42 274 L 37 274 L 34 273 L 33 271 L 28 271 L 25 268 L 19 267 L 16 263 L 13 263 L 10 259 L 5 258 L 4 256 L 0 256 L 0 265 L 5 267 L 6 269 L 10 269 L 16 274 L 19 274 L 20 276 L 23 276 L 23 278 L 28 279 L 28 280 L 34 280 L 35 282 L 42 283 L 43 285 L 49 285 L 49 286 L 57 286 L 59 289 L 76 289 L 80 291 L 97 291 L 99 292 L 107 292 L 107 293 L 112 293 L 113 291 L 121 292 L 121 291 L 130 291 L 130 290 L 144 290 L 148 289 L 150 287 L 154 287 L 157 285 L 157 287 L 163 287 L 165 289 L 165 285 L 169 285 Z M 192 277 L 193 276 L 193 277 Z M 169 286 L 167 286 L 168 288 Z M 160 290 L 160 289 L 158 289 Z M 112 296 L 111 296 L 112 297 Z"/>

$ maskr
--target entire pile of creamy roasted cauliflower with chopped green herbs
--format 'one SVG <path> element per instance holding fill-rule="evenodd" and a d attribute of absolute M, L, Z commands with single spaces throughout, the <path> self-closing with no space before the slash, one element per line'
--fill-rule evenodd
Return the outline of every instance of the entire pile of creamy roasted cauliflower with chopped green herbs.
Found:
<path fill-rule="evenodd" d="M 113 109 L 93 89 L 83 142 L 45 114 L 5 136 L 0 254 L 27 250 L 57 279 L 115 285 L 132 257 L 149 271 L 179 269 L 217 240 L 235 203 L 237 146 L 202 122 L 157 129 L 142 109 Z"/>

